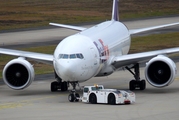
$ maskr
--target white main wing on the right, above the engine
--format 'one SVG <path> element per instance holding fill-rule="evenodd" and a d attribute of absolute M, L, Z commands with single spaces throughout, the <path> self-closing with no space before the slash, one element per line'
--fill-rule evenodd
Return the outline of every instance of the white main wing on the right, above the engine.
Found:
<path fill-rule="evenodd" d="M 145 62 L 157 55 L 167 55 L 167 54 L 172 54 L 172 53 L 177 53 L 177 52 L 179 52 L 179 47 L 150 51 L 150 52 L 122 55 L 122 56 L 115 57 L 112 61 L 112 65 L 115 68 L 120 68 L 120 67 L 128 66 L 131 64 L 135 64 L 135 63 Z"/>

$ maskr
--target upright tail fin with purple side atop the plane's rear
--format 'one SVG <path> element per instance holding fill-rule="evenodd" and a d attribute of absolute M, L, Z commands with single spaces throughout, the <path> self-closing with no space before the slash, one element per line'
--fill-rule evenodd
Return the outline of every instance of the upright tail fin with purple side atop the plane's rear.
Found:
<path fill-rule="evenodd" d="M 111 20 L 119 21 L 118 2 L 119 2 L 119 0 L 113 0 L 113 8 L 112 8 L 112 18 L 111 18 Z"/>

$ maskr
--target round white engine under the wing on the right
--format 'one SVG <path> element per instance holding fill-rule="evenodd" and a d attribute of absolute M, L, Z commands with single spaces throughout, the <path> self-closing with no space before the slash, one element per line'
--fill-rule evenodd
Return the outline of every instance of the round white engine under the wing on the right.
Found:
<path fill-rule="evenodd" d="M 176 74 L 177 68 L 175 63 L 166 56 L 158 55 L 146 64 L 145 77 L 154 87 L 170 85 Z"/>

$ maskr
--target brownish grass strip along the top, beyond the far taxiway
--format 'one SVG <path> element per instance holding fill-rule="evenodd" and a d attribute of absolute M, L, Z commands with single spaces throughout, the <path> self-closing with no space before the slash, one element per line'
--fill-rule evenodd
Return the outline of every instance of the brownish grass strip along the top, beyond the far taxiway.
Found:
<path fill-rule="evenodd" d="M 112 0 L 0 0 L 0 30 L 111 19 Z M 179 14 L 179 0 L 120 0 L 120 19 Z"/>

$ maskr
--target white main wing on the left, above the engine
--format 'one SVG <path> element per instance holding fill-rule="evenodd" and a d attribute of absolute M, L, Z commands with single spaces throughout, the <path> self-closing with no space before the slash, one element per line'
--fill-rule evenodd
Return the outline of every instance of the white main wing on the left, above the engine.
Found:
<path fill-rule="evenodd" d="M 34 59 L 35 61 L 41 61 L 43 63 L 53 64 L 53 55 L 50 54 L 26 52 L 26 51 L 5 49 L 5 48 L 0 48 L 0 54 L 25 57 L 25 58 Z"/>

